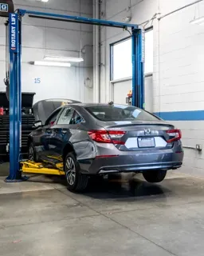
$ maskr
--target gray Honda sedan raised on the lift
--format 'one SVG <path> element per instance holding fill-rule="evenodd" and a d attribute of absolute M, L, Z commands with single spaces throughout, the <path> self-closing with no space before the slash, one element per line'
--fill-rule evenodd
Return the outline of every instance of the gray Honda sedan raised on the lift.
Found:
<path fill-rule="evenodd" d="M 162 182 L 182 166 L 181 131 L 147 111 L 114 104 L 70 104 L 37 122 L 29 158 L 64 164 L 69 190 L 84 190 L 91 175 L 143 173 Z"/>

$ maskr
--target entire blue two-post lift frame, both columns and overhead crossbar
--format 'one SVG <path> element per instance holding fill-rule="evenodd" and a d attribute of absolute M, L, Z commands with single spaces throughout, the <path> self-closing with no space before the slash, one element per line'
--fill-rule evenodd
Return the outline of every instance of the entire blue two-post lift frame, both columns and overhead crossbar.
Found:
<path fill-rule="evenodd" d="M 21 126 L 22 126 L 22 17 L 43 18 L 61 22 L 77 22 L 96 26 L 111 26 L 127 30 L 131 29 L 132 38 L 132 105 L 143 108 L 143 30 L 137 25 L 112 22 L 95 18 L 84 18 L 61 14 L 50 14 L 31 10 L 17 10 L 10 14 L 10 175 L 6 182 L 20 182 L 22 178 L 19 168 L 21 162 Z"/>

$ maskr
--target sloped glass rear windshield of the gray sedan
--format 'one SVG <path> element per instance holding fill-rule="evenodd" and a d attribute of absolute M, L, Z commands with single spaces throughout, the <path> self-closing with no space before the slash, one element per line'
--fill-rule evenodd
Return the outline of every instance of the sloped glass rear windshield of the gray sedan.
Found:
<path fill-rule="evenodd" d="M 85 108 L 92 116 L 100 121 L 158 121 L 155 117 L 135 106 L 88 106 Z"/>

